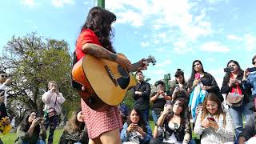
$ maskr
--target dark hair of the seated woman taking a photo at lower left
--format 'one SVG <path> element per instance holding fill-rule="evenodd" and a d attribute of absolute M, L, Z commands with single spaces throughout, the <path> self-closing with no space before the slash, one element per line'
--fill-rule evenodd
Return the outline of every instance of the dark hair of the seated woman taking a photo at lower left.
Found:
<path fill-rule="evenodd" d="M 35 110 L 26 111 L 26 113 L 23 116 L 23 120 L 20 123 L 20 126 L 21 126 L 20 130 L 27 132 L 27 130 L 30 129 L 31 123 L 28 122 L 28 120 L 29 120 L 30 114 L 32 114 L 33 112 L 37 113 Z M 35 134 L 38 138 L 39 133 L 40 133 L 40 126 L 38 125 L 38 126 L 35 126 L 33 134 Z"/>

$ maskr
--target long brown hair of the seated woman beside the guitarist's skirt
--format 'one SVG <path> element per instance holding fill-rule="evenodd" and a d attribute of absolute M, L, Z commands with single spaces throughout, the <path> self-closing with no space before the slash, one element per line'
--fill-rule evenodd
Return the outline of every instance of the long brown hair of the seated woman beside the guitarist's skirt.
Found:
<path fill-rule="evenodd" d="M 64 127 L 64 131 L 68 131 L 70 133 L 75 131 L 82 131 L 85 127 L 85 122 L 78 122 L 77 115 L 81 111 L 81 108 L 78 108 L 78 110 L 74 110 L 72 113 L 71 118 L 68 122 L 66 122 L 66 126 Z"/>

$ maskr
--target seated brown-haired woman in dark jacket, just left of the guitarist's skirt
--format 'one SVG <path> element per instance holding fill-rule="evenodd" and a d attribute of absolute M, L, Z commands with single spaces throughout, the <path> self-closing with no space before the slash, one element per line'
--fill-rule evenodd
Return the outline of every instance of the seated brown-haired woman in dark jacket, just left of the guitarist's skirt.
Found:
<path fill-rule="evenodd" d="M 59 140 L 59 144 L 84 144 L 88 143 L 89 138 L 84 122 L 82 109 L 75 110 L 64 127 L 63 134 Z"/>

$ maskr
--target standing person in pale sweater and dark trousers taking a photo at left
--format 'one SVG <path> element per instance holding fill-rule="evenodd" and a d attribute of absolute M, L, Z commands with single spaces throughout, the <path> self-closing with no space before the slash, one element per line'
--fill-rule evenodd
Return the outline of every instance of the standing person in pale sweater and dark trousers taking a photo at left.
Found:
<path fill-rule="evenodd" d="M 44 126 L 46 130 L 50 125 L 50 132 L 48 137 L 48 144 L 53 143 L 54 140 L 54 130 L 58 125 L 58 116 L 62 111 L 62 103 L 65 102 L 65 98 L 62 93 L 58 90 L 57 82 L 50 81 L 48 82 L 48 91 L 42 95 L 42 102 L 44 102 L 44 113 L 46 121 Z"/>

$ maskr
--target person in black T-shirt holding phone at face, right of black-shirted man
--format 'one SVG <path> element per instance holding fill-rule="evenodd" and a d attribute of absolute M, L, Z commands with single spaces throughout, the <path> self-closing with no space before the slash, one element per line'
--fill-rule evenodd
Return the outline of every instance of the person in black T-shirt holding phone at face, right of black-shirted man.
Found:
<path fill-rule="evenodd" d="M 154 86 L 157 87 L 157 91 L 151 94 L 150 102 L 153 102 L 152 118 L 154 123 L 157 123 L 166 101 L 171 100 L 171 96 L 170 91 L 165 91 L 165 84 L 161 80 L 155 82 Z"/>

